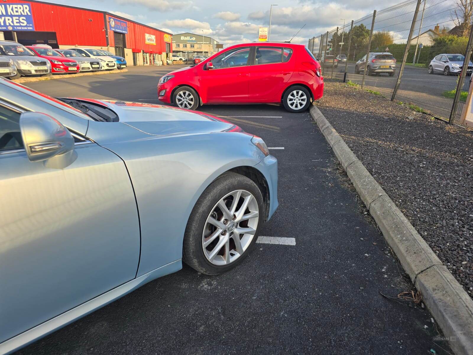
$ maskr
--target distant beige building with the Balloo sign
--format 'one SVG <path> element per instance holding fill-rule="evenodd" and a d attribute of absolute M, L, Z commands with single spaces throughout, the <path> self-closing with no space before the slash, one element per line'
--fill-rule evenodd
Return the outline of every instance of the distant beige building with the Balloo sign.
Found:
<path fill-rule="evenodd" d="M 178 33 L 173 35 L 173 56 L 193 60 L 196 55 L 210 57 L 217 53 L 218 41 L 212 37 L 197 35 L 195 33 Z"/>

